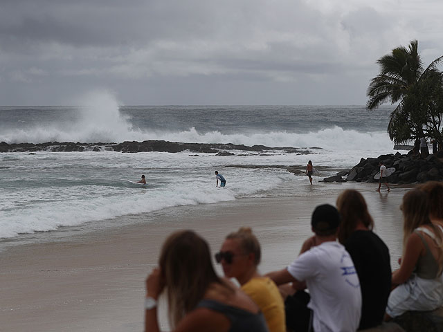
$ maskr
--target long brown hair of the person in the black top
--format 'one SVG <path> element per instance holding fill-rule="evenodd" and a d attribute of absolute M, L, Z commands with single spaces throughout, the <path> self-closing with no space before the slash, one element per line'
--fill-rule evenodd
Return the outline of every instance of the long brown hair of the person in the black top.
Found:
<path fill-rule="evenodd" d="M 341 215 L 340 228 L 338 230 L 338 241 L 344 243 L 354 232 L 359 221 L 372 230 L 374 228 L 374 219 L 369 214 L 368 205 L 360 192 L 353 189 L 347 189 L 338 195 L 337 210 Z"/>

